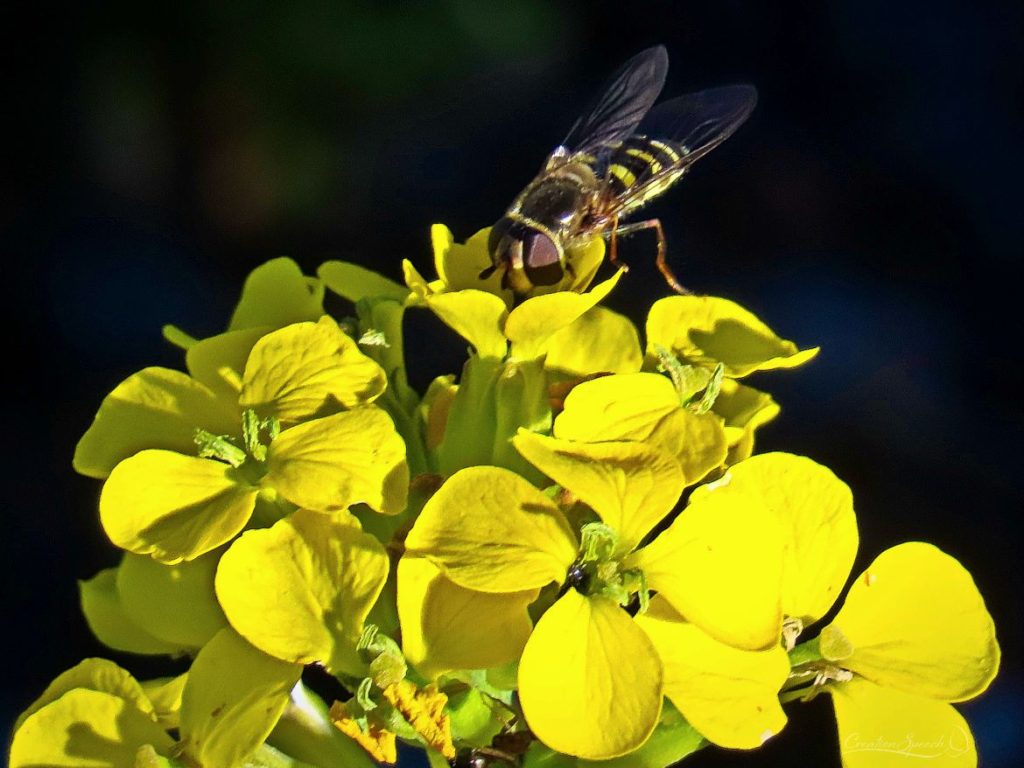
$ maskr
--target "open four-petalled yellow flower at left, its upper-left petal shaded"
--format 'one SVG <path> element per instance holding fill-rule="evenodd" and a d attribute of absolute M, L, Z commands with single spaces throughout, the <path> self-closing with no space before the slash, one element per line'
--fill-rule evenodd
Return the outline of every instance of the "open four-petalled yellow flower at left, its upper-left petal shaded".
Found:
<path fill-rule="evenodd" d="M 231 402 L 184 374 L 158 381 L 145 374 L 108 397 L 77 456 L 102 468 L 133 452 L 114 466 L 100 496 L 100 520 L 119 547 L 167 563 L 194 559 L 237 536 L 257 498 L 319 511 L 356 502 L 384 514 L 404 507 L 404 444 L 391 419 L 367 404 L 383 391 L 384 373 L 330 317 L 256 341 Z M 207 434 L 200 456 L 194 433 L 210 421 L 195 421 L 201 415 L 181 407 L 179 391 L 200 393 L 225 429 Z M 243 412 L 253 415 L 245 424 Z M 243 439 L 232 440 L 240 432 Z M 169 447 L 135 451 L 169 435 Z"/>

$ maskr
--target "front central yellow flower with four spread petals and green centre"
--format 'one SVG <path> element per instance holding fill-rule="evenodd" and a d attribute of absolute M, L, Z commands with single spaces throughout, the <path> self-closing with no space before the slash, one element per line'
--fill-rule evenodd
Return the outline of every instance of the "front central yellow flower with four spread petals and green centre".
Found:
<path fill-rule="evenodd" d="M 439 569 L 434 578 L 451 583 L 442 587 L 449 593 L 454 587 L 479 595 L 465 601 L 478 599 L 477 610 L 471 617 L 450 614 L 443 627 L 430 624 L 414 603 L 434 588 L 426 582 L 431 571 L 417 564 L 417 580 L 401 566 L 407 647 L 412 638 L 421 653 L 429 652 L 438 631 L 472 631 L 481 621 L 499 625 L 503 618 L 483 611 L 521 615 L 537 590 L 563 586 L 522 649 L 520 701 L 530 729 L 552 749 L 608 759 L 642 744 L 662 709 L 660 659 L 623 609 L 634 594 L 657 591 L 688 621 L 735 647 L 777 644 L 782 546 L 778 524 L 763 507 L 734 503 L 733 496 L 690 505 L 638 549 L 685 486 L 674 458 L 639 442 L 571 443 L 529 433 L 515 444 L 602 523 L 585 526 L 581 543 L 561 510 L 514 473 L 478 467 L 455 474 L 424 508 L 406 557 L 431 561 Z M 505 601 L 487 605 L 484 598 Z M 455 655 L 451 646 L 444 650 Z"/>

